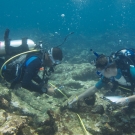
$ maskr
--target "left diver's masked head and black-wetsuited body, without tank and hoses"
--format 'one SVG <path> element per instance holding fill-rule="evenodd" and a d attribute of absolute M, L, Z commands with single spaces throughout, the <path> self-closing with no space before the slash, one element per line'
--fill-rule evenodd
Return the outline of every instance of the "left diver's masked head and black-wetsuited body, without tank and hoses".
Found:
<path fill-rule="evenodd" d="M 30 91 L 36 91 L 41 94 L 48 92 L 53 93 L 53 90 L 47 89 L 47 82 L 44 82 L 44 80 L 38 76 L 38 71 L 43 65 L 44 67 L 53 68 L 53 66 L 61 63 L 62 58 L 62 50 L 58 47 L 51 48 L 44 54 L 43 58 L 35 55 L 30 56 L 25 61 L 21 79 L 11 83 L 11 88 L 14 88 L 17 83 L 21 82 L 21 86 Z"/>

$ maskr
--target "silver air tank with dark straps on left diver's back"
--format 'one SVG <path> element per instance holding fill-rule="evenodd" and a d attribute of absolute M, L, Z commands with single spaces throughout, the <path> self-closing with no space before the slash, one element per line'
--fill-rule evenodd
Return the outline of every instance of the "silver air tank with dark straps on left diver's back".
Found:
<path fill-rule="evenodd" d="M 27 38 L 21 40 L 9 40 L 8 44 L 5 43 L 5 41 L 0 41 L 0 56 L 30 51 L 33 50 L 35 46 L 36 44 L 34 41 Z"/>

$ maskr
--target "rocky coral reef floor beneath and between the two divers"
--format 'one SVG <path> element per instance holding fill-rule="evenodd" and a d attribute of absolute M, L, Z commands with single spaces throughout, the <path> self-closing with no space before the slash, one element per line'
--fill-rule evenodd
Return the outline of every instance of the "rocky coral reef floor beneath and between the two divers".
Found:
<path fill-rule="evenodd" d="M 81 55 L 84 56 L 83 53 Z M 97 80 L 94 67 L 88 63 L 61 64 L 57 67 L 56 74 L 50 77 L 50 82 L 68 97 L 82 93 L 93 86 Z M 133 135 L 135 133 L 134 105 L 130 109 L 116 106 L 101 98 L 106 94 L 108 94 L 107 90 L 101 89 L 95 95 L 74 104 L 74 109 L 66 107 L 60 110 L 66 100 L 61 93 L 57 98 L 56 95 L 53 97 L 47 94 L 40 95 L 23 88 L 11 91 L 1 86 L 0 134 L 84 135 L 84 128 L 80 124 L 77 113 L 89 134 Z"/>

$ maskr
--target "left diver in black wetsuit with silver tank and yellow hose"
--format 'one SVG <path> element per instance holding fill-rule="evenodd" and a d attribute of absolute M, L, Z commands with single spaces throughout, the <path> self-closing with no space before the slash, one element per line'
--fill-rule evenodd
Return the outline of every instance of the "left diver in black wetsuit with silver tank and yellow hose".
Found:
<path fill-rule="evenodd" d="M 66 36 L 64 42 L 69 35 Z M 42 48 L 42 43 L 36 46 L 30 39 L 25 39 L 25 41 L 23 40 L 21 42 L 11 42 L 8 37 L 9 30 L 7 29 L 4 36 L 5 46 L 3 43 L 3 48 L 5 48 L 5 50 L 0 50 L 0 52 L 2 54 L 5 54 L 6 52 L 8 58 L 13 56 L 13 54 L 17 55 L 8 60 L 5 58 L 6 62 L 1 67 L 1 77 L 11 84 L 11 89 L 13 89 L 16 84 L 21 83 L 21 87 L 30 91 L 35 91 L 41 94 L 53 94 L 54 90 L 48 89 L 48 79 L 49 75 L 54 72 L 54 67 L 62 61 L 63 53 L 59 46 L 63 45 L 64 42 L 45 51 L 45 49 Z M 19 43 L 22 44 L 20 45 Z M 31 50 L 31 48 L 34 48 L 34 50 Z M 44 72 L 43 78 L 41 79 L 38 76 L 38 71 L 42 67 L 44 68 Z M 49 70 L 47 70 L 47 68 L 49 68 Z"/>

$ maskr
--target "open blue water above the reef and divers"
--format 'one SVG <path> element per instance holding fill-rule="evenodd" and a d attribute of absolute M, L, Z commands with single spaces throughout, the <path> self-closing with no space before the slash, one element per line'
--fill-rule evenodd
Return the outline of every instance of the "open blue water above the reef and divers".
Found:
<path fill-rule="evenodd" d="M 134 0 L 3 0 L 0 5 L 0 40 L 9 28 L 12 39 L 30 37 L 36 42 L 45 40 L 55 45 L 74 31 L 65 48 L 79 45 L 98 49 L 99 43 L 105 47 L 109 40 L 117 44 L 122 40 L 118 36 L 123 33 L 128 34 L 127 41 L 123 39 L 125 45 L 131 45 L 127 42 L 135 36 Z M 94 45 L 89 40 L 106 33 L 112 35 L 111 32 L 116 33 L 113 38 L 93 41 Z"/>

